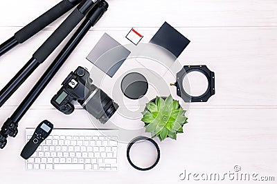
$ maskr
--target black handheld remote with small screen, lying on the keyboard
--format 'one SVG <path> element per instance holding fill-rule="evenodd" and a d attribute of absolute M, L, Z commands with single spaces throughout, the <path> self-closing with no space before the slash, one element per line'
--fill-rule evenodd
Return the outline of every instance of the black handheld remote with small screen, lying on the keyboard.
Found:
<path fill-rule="evenodd" d="M 51 134 L 52 130 L 53 124 L 49 121 L 44 120 L 39 123 L 32 138 L 26 143 L 20 155 L 26 160 L 29 159 L 37 150 L 37 147 Z"/>

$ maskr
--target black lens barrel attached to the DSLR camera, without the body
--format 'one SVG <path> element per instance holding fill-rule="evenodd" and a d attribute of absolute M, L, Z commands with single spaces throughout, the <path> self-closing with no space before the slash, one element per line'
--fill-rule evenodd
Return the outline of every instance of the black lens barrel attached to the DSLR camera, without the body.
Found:
<path fill-rule="evenodd" d="M 89 95 L 86 95 L 87 98 L 81 105 L 89 114 L 98 119 L 100 123 L 105 124 L 118 109 L 118 104 L 105 92 L 94 85 L 93 87 L 94 90 L 89 92 Z"/>

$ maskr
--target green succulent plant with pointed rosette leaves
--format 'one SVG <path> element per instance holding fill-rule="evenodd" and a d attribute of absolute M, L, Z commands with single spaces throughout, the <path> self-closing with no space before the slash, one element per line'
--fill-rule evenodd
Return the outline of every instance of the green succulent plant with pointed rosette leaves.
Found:
<path fill-rule="evenodd" d="M 146 104 L 143 114 L 145 123 L 145 132 L 150 132 L 152 138 L 159 136 L 163 141 L 167 137 L 177 139 L 177 133 L 184 133 L 183 125 L 188 123 L 188 118 L 185 116 L 186 110 L 183 110 L 179 101 L 168 96 L 165 100 L 157 96 L 154 102 Z"/>

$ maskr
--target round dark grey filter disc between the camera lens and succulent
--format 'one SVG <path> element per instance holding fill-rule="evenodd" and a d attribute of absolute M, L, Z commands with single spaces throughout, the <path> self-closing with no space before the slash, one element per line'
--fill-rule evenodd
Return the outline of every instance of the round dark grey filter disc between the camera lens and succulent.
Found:
<path fill-rule="evenodd" d="M 132 72 L 124 76 L 121 90 L 129 99 L 141 99 L 148 92 L 148 81 L 142 74 Z"/>

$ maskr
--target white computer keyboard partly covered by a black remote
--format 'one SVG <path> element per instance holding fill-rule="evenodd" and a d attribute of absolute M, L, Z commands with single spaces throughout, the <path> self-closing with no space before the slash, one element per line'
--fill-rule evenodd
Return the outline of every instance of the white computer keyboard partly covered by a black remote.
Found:
<path fill-rule="evenodd" d="M 26 129 L 26 142 L 35 129 Z M 118 170 L 118 130 L 53 129 L 26 170 Z"/>

